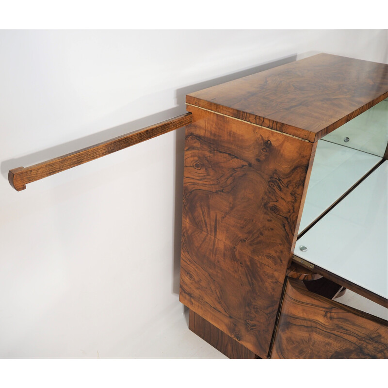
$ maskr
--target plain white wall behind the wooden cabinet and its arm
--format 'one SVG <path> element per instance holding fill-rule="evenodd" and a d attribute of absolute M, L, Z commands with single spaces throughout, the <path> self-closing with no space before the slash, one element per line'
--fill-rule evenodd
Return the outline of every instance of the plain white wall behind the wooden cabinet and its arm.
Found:
<path fill-rule="evenodd" d="M 185 113 L 204 87 L 387 47 L 386 30 L 0 31 L 0 357 L 199 356 L 171 329 L 188 331 L 183 129 L 19 193 L 9 169 Z"/>

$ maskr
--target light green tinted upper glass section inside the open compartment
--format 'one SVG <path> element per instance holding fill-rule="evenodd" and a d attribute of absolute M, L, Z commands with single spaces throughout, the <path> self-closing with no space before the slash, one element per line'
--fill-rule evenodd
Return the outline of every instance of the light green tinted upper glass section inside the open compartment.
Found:
<path fill-rule="evenodd" d="M 361 113 L 322 140 L 383 157 L 388 143 L 388 99 Z"/>

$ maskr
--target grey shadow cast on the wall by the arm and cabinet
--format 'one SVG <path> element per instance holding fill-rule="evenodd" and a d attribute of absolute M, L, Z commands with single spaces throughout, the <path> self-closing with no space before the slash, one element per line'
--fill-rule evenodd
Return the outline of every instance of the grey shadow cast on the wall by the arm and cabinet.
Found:
<path fill-rule="evenodd" d="M 20 158 L 10 159 L 1 162 L 0 171 L 3 178 L 8 180 L 8 171 L 16 167 L 27 167 L 42 161 L 50 160 L 61 155 L 74 152 L 75 150 L 92 146 L 101 143 L 137 129 L 167 120 L 171 117 L 185 113 L 186 95 L 198 90 L 206 89 L 211 86 L 219 85 L 228 81 L 233 81 L 238 78 L 249 76 L 260 71 L 267 70 L 276 66 L 285 65 L 296 60 L 296 54 L 277 59 L 272 62 L 263 63 L 261 65 L 251 67 L 242 71 L 231 73 L 219 78 L 208 81 L 199 82 L 193 85 L 185 86 L 177 89 L 176 99 L 177 106 L 159 113 L 143 117 L 139 120 L 125 123 L 110 129 L 97 132 L 93 135 L 85 136 L 80 139 L 50 147 Z M 176 155 L 175 155 L 175 214 L 174 214 L 174 258 L 172 265 L 173 284 L 172 292 L 179 293 L 179 267 L 180 267 L 180 238 L 181 238 L 181 223 L 182 223 L 182 196 L 183 196 L 183 160 L 184 160 L 184 137 L 185 130 L 180 128 L 176 131 Z M 11 187 L 10 187 L 10 190 Z"/>

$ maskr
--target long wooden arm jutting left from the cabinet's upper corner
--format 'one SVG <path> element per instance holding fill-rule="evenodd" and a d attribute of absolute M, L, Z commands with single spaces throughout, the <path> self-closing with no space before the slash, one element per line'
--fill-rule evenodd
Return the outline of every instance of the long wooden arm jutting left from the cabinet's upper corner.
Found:
<path fill-rule="evenodd" d="M 120 149 L 152 139 L 156 136 L 184 127 L 192 121 L 192 114 L 185 113 L 173 119 L 136 130 L 126 135 L 115 137 L 106 142 L 83 148 L 67 155 L 51 159 L 46 162 L 34 164 L 30 167 L 17 167 L 8 173 L 11 186 L 17 190 L 24 190 L 26 184 L 34 182 L 50 175 L 57 174 L 80 164 L 93 161 L 102 156 L 109 155 Z"/>

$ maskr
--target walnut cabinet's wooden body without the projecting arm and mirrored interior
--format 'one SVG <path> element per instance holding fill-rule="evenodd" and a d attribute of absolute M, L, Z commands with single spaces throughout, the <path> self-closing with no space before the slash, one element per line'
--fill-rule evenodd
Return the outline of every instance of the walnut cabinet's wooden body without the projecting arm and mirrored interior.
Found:
<path fill-rule="evenodd" d="M 332 300 L 341 287 L 385 307 L 387 296 L 295 249 L 318 141 L 387 97 L 388 65 L 328 54 L 187 96 L 180 301 L 226 356 L 388 356 L 388 322 Z M 323 214 L 383 167 L 381 142 Z"/>

